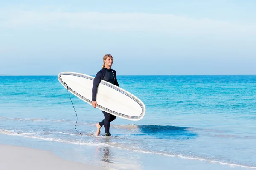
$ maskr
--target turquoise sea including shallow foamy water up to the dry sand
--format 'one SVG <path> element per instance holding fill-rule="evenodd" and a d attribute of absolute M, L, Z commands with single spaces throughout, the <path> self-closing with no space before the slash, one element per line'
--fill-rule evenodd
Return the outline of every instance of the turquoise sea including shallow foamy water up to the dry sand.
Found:
<path fill-rule="evenodd" d="M 0 76 L 0 144 L 117 170 L 256 169 L 256 76 L 117 79 L 146 113 L 117 117 L 106 137 L 104 127 L 96 136 L 102 111 L 68 93 L 57 75 Z"/>

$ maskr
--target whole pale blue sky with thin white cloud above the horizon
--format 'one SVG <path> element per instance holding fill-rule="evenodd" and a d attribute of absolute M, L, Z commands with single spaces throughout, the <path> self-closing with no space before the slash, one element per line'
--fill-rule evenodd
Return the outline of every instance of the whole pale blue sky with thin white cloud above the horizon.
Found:
<path fill-rule="evenodd" d="M 254 0 L 0 0 L 0 75 L 256 74 Z"/>

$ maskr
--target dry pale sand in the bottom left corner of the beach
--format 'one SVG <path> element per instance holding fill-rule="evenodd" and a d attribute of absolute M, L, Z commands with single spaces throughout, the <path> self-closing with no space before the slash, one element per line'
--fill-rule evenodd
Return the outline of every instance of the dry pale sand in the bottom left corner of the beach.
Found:
<path fill-rule="evenodd" d="M 0 167 L 4 170 L 106 170 L 103 167 L 62 159 L 47 150 L 0 144 Z"/>

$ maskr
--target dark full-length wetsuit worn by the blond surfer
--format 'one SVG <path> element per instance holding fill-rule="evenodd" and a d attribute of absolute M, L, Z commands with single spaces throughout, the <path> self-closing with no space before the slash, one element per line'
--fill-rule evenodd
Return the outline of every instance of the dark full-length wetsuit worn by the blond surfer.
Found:
<path fill-rule="evenodd" d="M 119 87 L 119 84 L 116 79 L 116 71 L 113 69 L 108 70 L 107 68 L 102 68 L 96 74 L 94 81 L 93 81 L 92 101 L 96 101 L 96 93 L 98 90 L 99 83 L 102 79 Z M 110 122 L 115 120 L 116 116 L 114 116 L 110 113 L 107 113 L 105 111 L 102 111 L 102 112 L 103 112 L 105 118 L 101 122 L 99 122 L 99 125 L 100 126 L 104 125 L 106 136 L 110 136 L 111 135 L 109 133 Z"/>

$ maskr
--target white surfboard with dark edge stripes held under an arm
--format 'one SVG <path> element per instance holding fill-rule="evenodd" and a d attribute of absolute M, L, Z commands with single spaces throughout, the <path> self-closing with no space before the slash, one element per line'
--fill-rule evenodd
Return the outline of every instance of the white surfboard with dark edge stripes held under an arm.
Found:
<path fill-rule="evenodd" d="M 92 104 L 94 77 L 75 72 L 62 72 L 58 75 L 58 80 L 79 99 Z M 98 86 L 96 101 L 96 108 L 123 119 L 140 120 L 146 111 L 144 103 L 136 96 L 104 80 L 101 80 Z"/>

